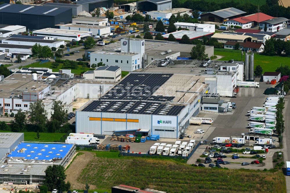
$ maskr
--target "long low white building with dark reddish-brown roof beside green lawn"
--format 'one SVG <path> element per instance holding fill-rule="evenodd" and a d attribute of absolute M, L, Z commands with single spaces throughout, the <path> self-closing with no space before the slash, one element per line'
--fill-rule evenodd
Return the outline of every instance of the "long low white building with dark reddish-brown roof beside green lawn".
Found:
<path fill-rule="evenodd" d="M 247 42 L 234 42 L 234 41 L 227 41 L 224 44 L 225 49 L 235 49 L 236 43 L 240 44 L 240 49 L 244 50 L 244 52 L 247 52 L 248 50 L 250 52 L 263 52 L 264 51 L 264 43 L 261 42 L 252 42 L 252 41 L 247 41 Z"/>

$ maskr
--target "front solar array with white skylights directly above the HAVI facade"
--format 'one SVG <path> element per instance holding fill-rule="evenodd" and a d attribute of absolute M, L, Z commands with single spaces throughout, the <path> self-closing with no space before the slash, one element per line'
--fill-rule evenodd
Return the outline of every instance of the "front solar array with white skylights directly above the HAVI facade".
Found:
<path fill-rule="evenodd" d="M 93 101 L 81 111 L 177 116 L 184 107 L 147 101 Z"/>

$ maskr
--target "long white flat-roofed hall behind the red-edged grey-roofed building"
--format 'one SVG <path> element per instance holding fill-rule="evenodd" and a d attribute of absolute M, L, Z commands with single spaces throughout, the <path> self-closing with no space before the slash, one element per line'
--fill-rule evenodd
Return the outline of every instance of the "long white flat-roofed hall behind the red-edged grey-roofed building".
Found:
<path fill-rule="evenodd" d="M 215 32 L 215 25 L 213 24 L 176 22 L 174 25 L 176 28 L 185 28 L 194 32 Z"/>

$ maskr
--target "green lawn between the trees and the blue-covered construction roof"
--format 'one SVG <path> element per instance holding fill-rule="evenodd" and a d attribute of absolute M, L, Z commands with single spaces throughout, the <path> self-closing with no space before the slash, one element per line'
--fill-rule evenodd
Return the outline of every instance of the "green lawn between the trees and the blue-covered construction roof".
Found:
<path fill-rule="evenodd" d="M 11 132 L 11 131 L 0 131 L 0 132 Z M 40 137 L 37 139 L 36 132 L 24 132 L 25 141 L 41 141 L 41 142 L 53 142 L 59 141 L 60 138 L 66 133 L 39 133 Z"/>

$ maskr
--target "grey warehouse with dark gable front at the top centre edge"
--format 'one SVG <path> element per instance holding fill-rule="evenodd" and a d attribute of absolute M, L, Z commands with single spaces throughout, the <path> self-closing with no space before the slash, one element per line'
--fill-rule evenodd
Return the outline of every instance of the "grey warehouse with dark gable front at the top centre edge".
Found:
<path fill-rule="evenodd" d="M 137 10 L 144 12 L 144 11 L 163 11 L 172 8 L 172 1 L 171 0 L 144 0 L 144 1 L 137 1 L 136 3 Z"/>

